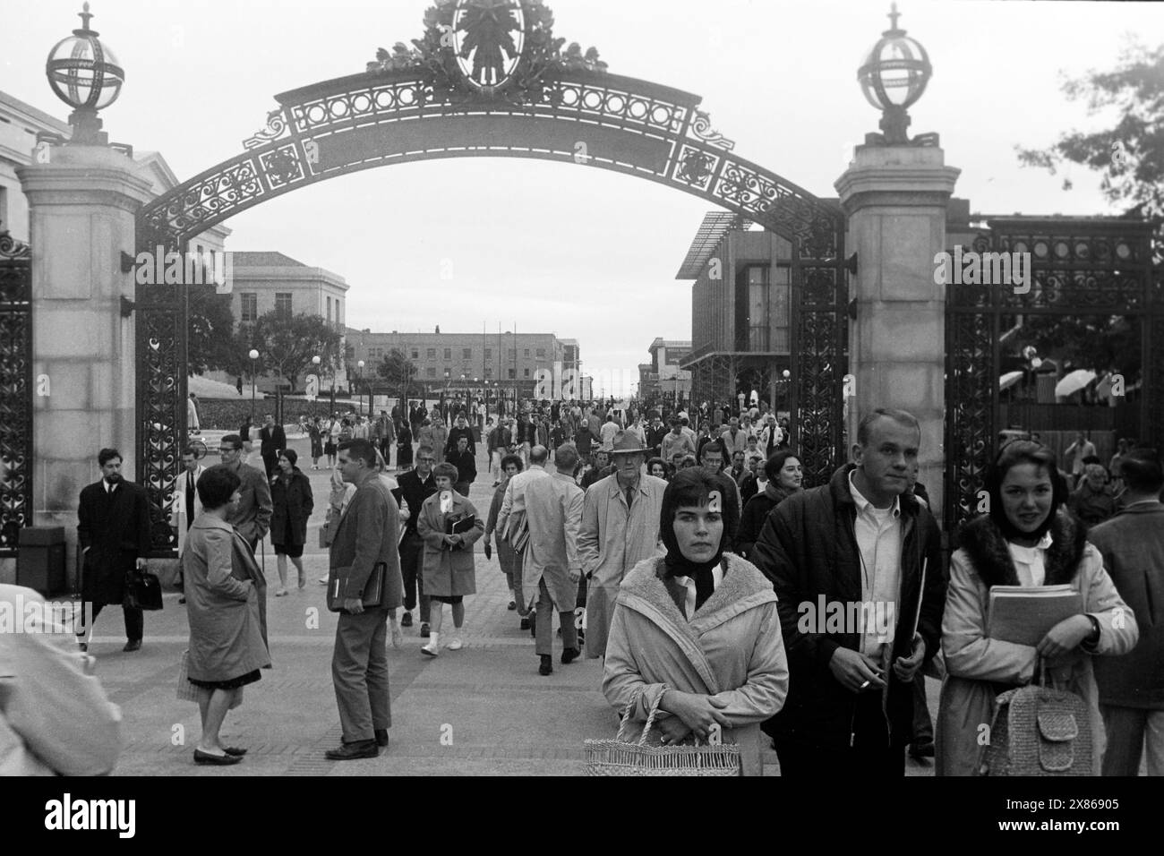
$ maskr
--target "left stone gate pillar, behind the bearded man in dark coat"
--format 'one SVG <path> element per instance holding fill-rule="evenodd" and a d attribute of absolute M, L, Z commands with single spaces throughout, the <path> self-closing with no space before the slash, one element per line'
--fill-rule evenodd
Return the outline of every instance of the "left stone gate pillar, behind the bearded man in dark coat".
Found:
<path fill-rule="evenodd" d="M 97 453 L 123 455 L 135 480 L 134 298 L 121 253 L 133 255 L 134 217 L 154 193 L 133 160 L 100 146 L 50 149 L 48 163 L 16 170 L 29 206 L 33 248 L 33 524 L 64 526 L 76 568 L 77 504 L 100 477 Z"/>

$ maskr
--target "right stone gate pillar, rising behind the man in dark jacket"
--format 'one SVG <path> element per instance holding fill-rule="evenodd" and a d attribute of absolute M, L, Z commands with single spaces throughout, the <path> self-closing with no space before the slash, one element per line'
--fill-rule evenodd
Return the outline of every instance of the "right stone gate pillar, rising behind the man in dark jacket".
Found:
<path fill-rule="evenodd" d="M 851 433 L 876 408 L 922 423 L 917 480 L 942 519 L 945 438 L 945 293 L 934 256 L 946 249 L 946 206 L 960 170 L 937 147 L 858 146 L 835 186 L 857 252 L 857 320 L 850 323 L 856 376 Z"/>

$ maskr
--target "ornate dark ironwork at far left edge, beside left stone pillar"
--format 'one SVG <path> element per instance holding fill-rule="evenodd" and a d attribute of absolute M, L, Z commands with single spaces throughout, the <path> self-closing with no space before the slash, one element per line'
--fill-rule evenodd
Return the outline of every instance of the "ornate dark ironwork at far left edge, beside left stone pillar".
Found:
<path fill-rule="evenodd" d="M 0 556 L 33 523 L 33 276 L 28 245 L 0 232 Z"/>

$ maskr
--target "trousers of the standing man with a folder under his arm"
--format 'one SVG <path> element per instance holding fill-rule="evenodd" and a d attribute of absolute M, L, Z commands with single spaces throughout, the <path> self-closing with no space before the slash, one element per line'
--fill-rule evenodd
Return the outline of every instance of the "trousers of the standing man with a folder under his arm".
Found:
<path fill-rule="evenodd" d="M 391 727 L 386 609 L 369 609 L 360 615 L 340 613 L 332 682 L 345 743 L 374 740 L 376 730 Z"/>

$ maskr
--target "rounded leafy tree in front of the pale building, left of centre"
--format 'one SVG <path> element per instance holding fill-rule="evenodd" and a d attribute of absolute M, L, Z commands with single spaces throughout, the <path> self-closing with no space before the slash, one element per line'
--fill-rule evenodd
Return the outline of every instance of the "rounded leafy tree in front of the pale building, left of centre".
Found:
<path fill-rule="evenodd" d="M 247 352 L 257 349 L 260 368 L 286 379 L 292 389 L 312 356 L 321 358 L 322 372 L 340 365 L 340 333 L 319 316 L 267 312 L 253 327 L 240 327 L 237 340 L 236 353 L 243 360 L 249 363 Z"/>

